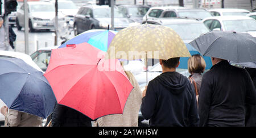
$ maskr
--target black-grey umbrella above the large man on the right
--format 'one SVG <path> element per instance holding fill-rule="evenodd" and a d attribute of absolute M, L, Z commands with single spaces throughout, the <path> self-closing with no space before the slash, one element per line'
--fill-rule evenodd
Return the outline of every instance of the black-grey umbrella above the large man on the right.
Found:
<path fill-rule="evenodd" d="M 203 56 L 233 62 L 256 61 L 256 38 L 245 33 L 211 31 L 191 41 Z"/>

